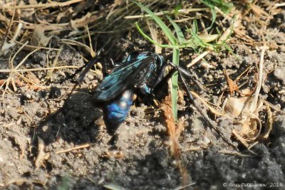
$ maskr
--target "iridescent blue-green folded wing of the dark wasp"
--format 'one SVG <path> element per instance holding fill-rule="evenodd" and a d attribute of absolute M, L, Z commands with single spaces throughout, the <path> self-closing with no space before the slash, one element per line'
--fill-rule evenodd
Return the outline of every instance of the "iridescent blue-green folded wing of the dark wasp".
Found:
<path fill-rule="evenodd" d="M 142 59 L 129 60 L 128 63 L 119 65 L 95 88 L 93 100 L 105 102 L 123 93 L 130 85 L 134 85 L 138 73 L 146 68 L 151 61 L 152 58 L 147 56 Z"/>

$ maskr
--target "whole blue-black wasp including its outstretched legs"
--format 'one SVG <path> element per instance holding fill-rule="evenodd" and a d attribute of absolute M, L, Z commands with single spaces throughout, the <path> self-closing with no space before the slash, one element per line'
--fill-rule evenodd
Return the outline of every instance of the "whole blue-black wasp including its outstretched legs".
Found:
<path fill-rule="evenodd" d="M 83 82 L 86 73 L 97 62 L 102 52 L 103 49 L 100 49 L 96 53 L 95 59 L 76 70 L 76 73 L 72 75 L 73 78 L 77 73 L 80 73 L 81 70 L 85 68 L 66 100 L 71 98 L 73 90 Z M 172 70 L 164 76 L 164 71 L 167 65 L 171 65 Z M 131 53 L 121 63 L 116 64 L 110 75 L 107 75 L 103 79 L 102 83 L 95 88 L 92 100 L 93 102 L 99 102 L 99 104 L 103 103 L 104 119 L 108 132 L 113 134 L 118 125 L 125 121 L 130 110 L 130 106 L 133 104 L 133 96 L 135 92 L 140 92 L 145 95 L 149 95 L 152 92 L 155 93 L 158 89 L 156 87 L 160 87 L 160 83 L 164 84 L 173 75 L 173 73 L 175 73 L 175 71 L 177 71 L 180 79 L 182 80 L 182 84 L 185 87 L 190 103 L 196 107 L 209 126 L 212 127 L 212 129 L 215 130 L 217 134 L 227 142 L 227 144 L 235 148 L 235 146 L 229 142 L 226 137 L 224 137 L 222 132 L 219 131 L 217 125 L 214 125 L 209 117 L 202 112 L 201 108 L 192 97 L 190 88 L 184 78 L 184 76 L 190 78 L 191 73 L 178 65 L 174 65 L 170 61 L 165 61 L 163 56 L 149 51 Z M 63 107 L 64 106 L 65 105 L 63 105 Z"/>

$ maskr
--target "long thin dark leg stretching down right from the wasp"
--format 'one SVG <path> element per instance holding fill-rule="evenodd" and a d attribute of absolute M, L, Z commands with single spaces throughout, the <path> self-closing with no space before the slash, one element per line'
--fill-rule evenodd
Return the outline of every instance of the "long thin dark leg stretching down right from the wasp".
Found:
<path fill-rule="evenodd" d="M 180 76 L 181 80 L 182 80 L 182 83 L 183 85 L 185 86 L 186 88 L 186 93 L 190 99 L 190 103 L 192 105 L 194 105 L 194 107 L 198 110 L 198 112 L 204 117 L 204 119 L 207 121 L 207 123 L 209 124 L 209 126 L 212 127 L 212 129 L 214 129 L 215 132 L 217 132 L 217 134 L 219 134 L 220 137 L 222 137 L 222 139 L 224 139 L 224 142 L 227 142 L 227 144 L 231 145 L 232 147 L 234 147 L 234 149 L 237 149 L 237 147 L 234 146 L 234 144 L 232 144 L 231 142 L 229 142 L 229 140 L 224 137 L 224 134 L 222 134 L 222 132 L 220 132 L 218 130 L 218 127 L 217 125 L 214 125 L 214 123 L 209 119 L 209 117 L 207 117 L 207 115 L 204 114 L 204 112 L 202 111 L 202 109 L 197 105 L 197 103 L 195 102 L 195 99 L 194 97 L 192 96 L 191 92 L 190 92 L 190 88 L 188 87 L 186 81 L 185 81 L 185 78 L 183 75 L 186 75 L 188 77 L 191 77 L 191 74 L 185 70 L 184 68 L 181 68 L 180 66 L 177 66 L 173 63 L 171 63 L 170 61 L 167 61 L 167 63 L 169 63 L 170 65 L 172 65 L 172 67 L 174 67 L 177 72 L 178 72 L 178 75 Z M 182 75 L 183 74 L 183 75 Z"/>

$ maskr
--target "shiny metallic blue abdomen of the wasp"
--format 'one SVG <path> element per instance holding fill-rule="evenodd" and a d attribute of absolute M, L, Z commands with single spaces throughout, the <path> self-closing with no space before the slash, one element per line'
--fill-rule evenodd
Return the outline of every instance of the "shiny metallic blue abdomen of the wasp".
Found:
<path fill-rule="evenodd" d="M 105 105 L 105 121 L 111 127 L 117 127 L 125 121 L 133 104 L 133 90 L 125 90 L 117 98 Z"/>

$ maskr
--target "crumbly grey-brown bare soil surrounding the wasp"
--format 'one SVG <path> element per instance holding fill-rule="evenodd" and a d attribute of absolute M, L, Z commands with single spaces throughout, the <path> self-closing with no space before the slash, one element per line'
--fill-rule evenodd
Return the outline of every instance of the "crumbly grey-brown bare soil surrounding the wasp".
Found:
<path fill-rule="evenodd" d="M 259 100 L 269 102 L 273 107 L 273 127 L 267 139 L 257 139 L 257 144 L 249 150 L 233 137 L 232 130 L 237 127 L 233 120 L 214 117 L 208 110 L 207 115 L 224 137 L 237 147 L 234 149 L 209 127 L 184 95 L 185 102 L 184 105 L 180 103 L 178 116 L 180 121 L 184 120 L 179 142 L 190 183 L 185 189 L 285 189 L 284 22 L 283 10 L 274 16 L 266 29 L 272 34 L 271 41 L 277 44 L 277 48 L 265 53 L 265 80 L 259 93 Z M 132 30 L 135 32 L 135 28 Z M 253 25 L 247 26 L 247 33 L 254 38 Z M 114 51 L 109 51 L 107 56 L 118 55 L 115 49 L 119 49 L 124 41 L 115 43 Z M 142 49 L 144 43 L 141 44 L 134 50 Z M 250 68 L 239 85 L 246 81 L 251 90 L 256 85 L 259 48 L 244 43 L 229 43 L 229 46 L 234 54 L 211 52 L 204 57 L 206 65 L 190 68 L 195 73 L 189 81 L 190 87 L 209 102 L 218 102 L 227 91 L 225 68 L 233 80 Z M 149 47 L 147 45 L 145 50 L 153 51 Z M 19 63 L 28 52 L 21 52 L 15 62 Z M 116 56 L 115 61 L 128 53 Z M 189 50 L 182 54 L 182 66 L 197 57 Z M 46 50 L 36 51 L 24 66 L 44 68 L 46 56 Z M 48 56 L 53 60 L 57 55 Z M 0 69 L 7 68 L 8 58 L 1 58 Z M 63 65 L 84 64 L 83 58 L 71 46 L 63 46 L 58 60 Z M 28 85 L 19 85 L 16 93 L 7 92 L 1 97 L 0 189 L 182 188 L 182 176 L 170 152 L 167 128 L 157 107 L 136 100 L 126 121 L 115 134 L 108 134 L 101 107 L 90 102 L 92 89 L 100 83 L 102 74 L 88 73 L 81 88 L 66 101 L 74 85 L 74 81 L 66 78 L 74 72 L 72 68 L 54 70 L 52 80 L 46 80 L 45 70 L 33 72 L 41 85 L 50 88 L 35 90 Z M 1 78 L 6 75 L 1 73 Z M 207 90 L 199 89 L 197 83 L 207 86 Z M 202 103 L 199 105 L 207 110 Z M 146 113 L 147 107 L 155 112 Z M 265 108 L 260 117 L 265 126 L 269 117 Z"/>

